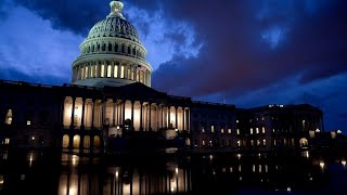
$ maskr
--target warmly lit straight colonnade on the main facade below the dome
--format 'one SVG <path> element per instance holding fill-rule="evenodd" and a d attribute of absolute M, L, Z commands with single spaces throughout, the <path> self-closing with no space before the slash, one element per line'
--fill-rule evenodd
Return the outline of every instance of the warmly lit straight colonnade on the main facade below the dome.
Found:
<path fill-rule="evenodd" d="M 126 123 L 129 121 L 130 123 Z M 190 130 L 190 108 L 144 101 L 95 100 L 67 96 L 64 101 L 65 129 L 100 129 L 104 125 L 133 131 Z"/>

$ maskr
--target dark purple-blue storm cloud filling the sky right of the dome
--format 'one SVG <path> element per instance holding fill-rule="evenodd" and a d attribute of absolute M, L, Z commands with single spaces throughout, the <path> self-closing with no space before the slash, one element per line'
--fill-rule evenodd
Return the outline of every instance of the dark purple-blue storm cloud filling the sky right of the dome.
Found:
<path fill-rule="evenodd" d="M 157 89 L 170 86 L 185 95 L 240 94 L 298 73 L 305 73 L 303 82 L 311 82 L 347 68 L 345 1 L 326 1 L 316 12 L 306 1 L 165 2 L 167 13 L 190 21 L 206 44 L 196 58 L 176 57 L 162 67 L 170 72 L 156 70 Z M 273 27 L 280 32 L 271 35 Z M 267 29 L 269 40 L 261 39 Z"/>

